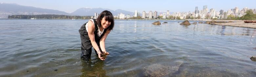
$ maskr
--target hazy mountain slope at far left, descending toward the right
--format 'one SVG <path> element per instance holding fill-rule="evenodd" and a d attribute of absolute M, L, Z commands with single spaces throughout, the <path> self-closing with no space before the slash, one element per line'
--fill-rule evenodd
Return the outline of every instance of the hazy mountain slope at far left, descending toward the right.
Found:
<path fill-rule="evenodd" d="M 58 14 L 58 15 L 71 15 L 64 11 L 35 8 L 30 6 L 21 6 L 18 4 L 0 4 L 0 18 L 8 18 L 8 15 L 39 15 L 39 14 Z"/>

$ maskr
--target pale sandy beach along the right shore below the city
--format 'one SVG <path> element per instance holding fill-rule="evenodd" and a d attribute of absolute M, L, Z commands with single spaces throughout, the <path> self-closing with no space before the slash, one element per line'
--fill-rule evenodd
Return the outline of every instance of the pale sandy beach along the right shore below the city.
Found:
<path fill-rule="evenodd" d="M 233 23 L 215 23 L 217 25 L 256 28 L 256 23 L 244 23 L 243 20 L 217 20 L 217 21 L 226 21 L 226 22 L 232 21 L 233 22 Z"/>

